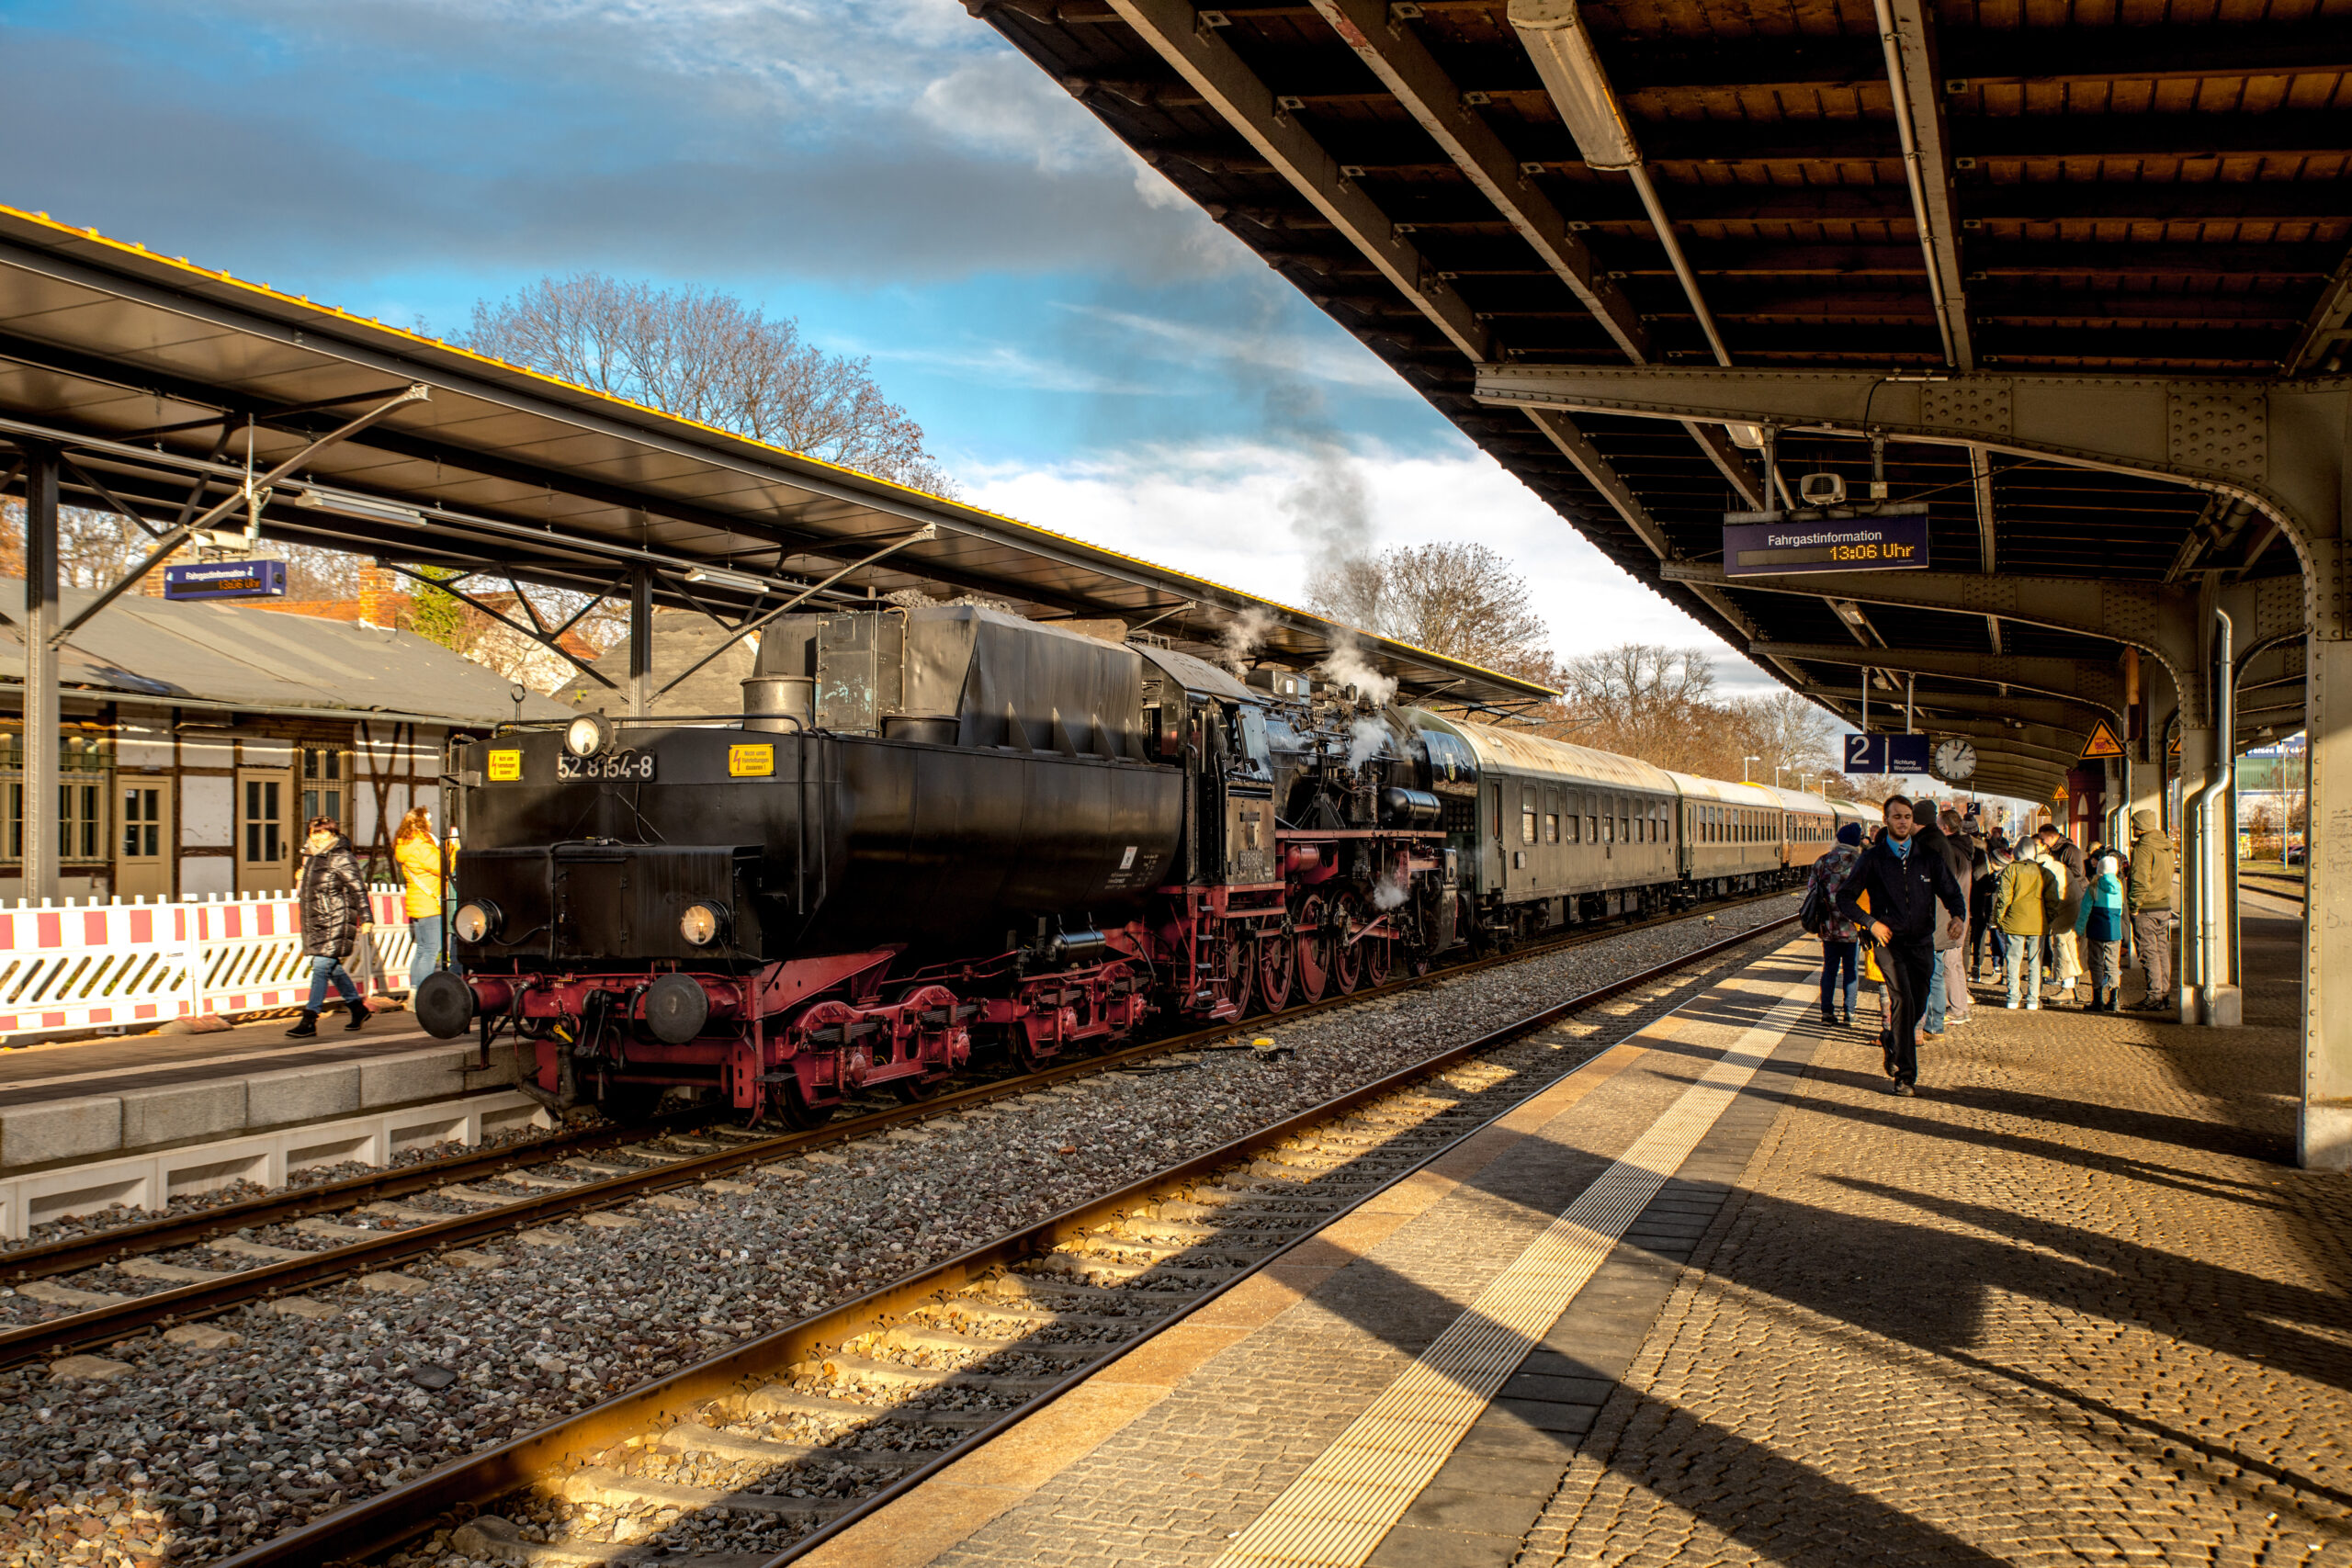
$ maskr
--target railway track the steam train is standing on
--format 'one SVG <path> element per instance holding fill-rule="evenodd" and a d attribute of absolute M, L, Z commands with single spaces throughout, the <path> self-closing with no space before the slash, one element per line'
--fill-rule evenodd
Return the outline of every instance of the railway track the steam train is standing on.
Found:
<path fill-rule="evenodd" d="M 1726 900 L 1719 907 L 1733 910 L 1780 896 L 1785 893 L 1757 893 Z M 993 1100 L 1035 1093 L 1098 1072 L 1136 1067 L 1152 1058 L 1225 1039 L 1235 1030 L 1289 1025 L 1341 1006 L 1357 1006 L 1439 980 L 1465 978 L 1501 964 L 1534 961 L 1609 936 L 1696 917 L 1703 914 L 1684 912 L 1581 929 L 1550 943 L 1519 947 L 1517 952 L 1451 964 L 1428 976 L 1399 978 L 1343 997 L 1324 997 L 1322 1001 L 1287 1009 L 1279 1016 L 1190 1030 L 797 1133 L 748 1133 L 731 1126 L 696 1124 L 691 1114 L 670 1117 L 661 1126 L 557 1131 L 524 1145 L 473 1150 L 336 1182 L 320 1182 L 318 1187 L 240 1199 L 186 1215 L 16 1248 L 0 1255 L 0 1279 L 7 1279 L 9 1288 L 19 1295 L 49 1307 L 64 1307 L 66 1314 L 0 1331 L 0 1368 L 68 1356 L 78 1349 L 115 1345 L 141 1333 L 169 1333 L 254 1300 L 292 1298 L 320 1284 L 353 1276 L 376 1288 L 397 1291 L 402 1288 L 397 1284 L 402 1265 L 461 1251 L 475 1241 L 543 1229 L 569 1215 L 727 1178 L 746 1166 L 882 1135 L 934 1117 L 978 1110 Z M 619 1154 L 628 1164 L 600 1161 L 595 1154 Z M 520 1192 L 489 1192 L 477 1185 L 485 1180 L 499 1180 L 508 1187 L 520 1187 Z M 426 1199 L 440 1204 L 440 1208 L 423 1208 L 402 1199 Z M 275 1234 L 278 1239 L 261 1241 L 254 1239 L 254 1232 Z M 165 1260 L 169 1253 L 179 1253 L 181 1260 Z M 96 1288 L 89 1281 L 66 1284 L 68 1276 L 89 1269 L 103 1269 L 108 1276 Z M 113 1288 L 129 1281 L 139 1286 L 155 1284 L 160 1288 L 141 1293 Z"/>

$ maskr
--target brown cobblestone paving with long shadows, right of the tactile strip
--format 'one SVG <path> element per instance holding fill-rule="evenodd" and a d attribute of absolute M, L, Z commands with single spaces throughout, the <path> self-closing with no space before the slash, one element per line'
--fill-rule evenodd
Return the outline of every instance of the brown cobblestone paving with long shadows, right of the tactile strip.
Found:
<path fill-rule="evenodd" d="M 2246 914 L 2244 1030 L 1980 992 L 1917 1100 L 1825 1041 L 1517 1561 L 2352 1563 L 2352 1182 Z"/>

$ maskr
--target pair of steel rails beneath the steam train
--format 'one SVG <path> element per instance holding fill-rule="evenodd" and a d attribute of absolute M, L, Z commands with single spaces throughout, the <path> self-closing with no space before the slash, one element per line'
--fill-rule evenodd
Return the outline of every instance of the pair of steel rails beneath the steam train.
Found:
<path fill-rule="evenodd" d="M 1755 893 L 1750 898 L 1731 900 L 1724 907 L 1740 907 L 1759 898 L 1776 898 L 1783 893 L 1785 889 L 1776 889 L 1771 893 Z M 1625 926 L 1576 931 L 1571 936 L 1543 943 L 1538 947 L 1522 947 L 1517 952 L 1496 952 L 1482 959 L 1470 959 L 1465 964 L 1449 964 L 1444 969 L 1432 969 L 1425 976 L 1404 976 L 1385 985 L 1362 987 L 1338 997 L 1322 997 L 1317 1001 L 1303 1001 L 1284 1009 L 1282 1013 L 1230 1020 L 1204 1030 L 1188 1030 L 1183 1034 L 1171 1034 L 1167 1039 L 1127 1046 L 1122 1051 L 1112 1051 L 1105 1056 L 1054 1063 L 1051 1067 L 1042 1067 L 1040 1072 L 1014 1074 L 995 1079 L 990 1084 L 974 1084 L 969 1088 L 955 1088 L 941 1095 L 915 1100 L 910 1105 L 870 1112 L 866 1117 L 851 1117 L 849 1121 L 833 1121 L 818 1128 L 783 1133 L 755 1143 L 739 1143 L 727 1150 L 715 1150 L 710 1154 L 691 1154 L 687 1159 L 652 1166 L 647 1171 L 633 1171 L 628 1175 L 612 1175 L 604 1180 L 583 1182 L 579 1187 L 562 1187 L 555 1192 L 520 1197 L 480 1213 L 449 1215 L 447 1220 L 433 1220 L 426 1225 L 412 1225 L 409 1229 L 386 1232 L 381 1237 L 346 1241 L 341 1246 L 322 1248 L 306 1258 L 259 1262 L 254 1267 L 223 1272 L 221 1279 L 172 1286 L 167 1291 L 151 1291 L 146 1295 L 129 1295 L 120 1302 L 111 1302 L 103 1307 L 71 1312 L 66 1316 L 47 1319 L 40 1324 L 24 1324 L 19 1328 L 0 1331 L 0 1368 L 73 1354 L 75 1349 L 85 1349 L 92 1345 L 111 1345 L 127 1335 L 172 1328 L 176 1324 L 216 1316 L 256 1298 L 275 1300 L 278 1295 L 299 1293 L 322 1281 L 341 1279 L 346 1274 L 372 1274 L 379 1269 L 400 1267 L 421 1255 L 440 1253 L 452 1246 L 466 1246 L 468 1241 L 480 1241 L 501 1232 L 527 1229 L 534 1225 L 560 1220 L 569 1213 L 609 1208 L 614 1204 L 626 1204 L 640 1197 L 652 1197 L 656 1192 L 668 1192 L 670 1187 L 703 1182 L 710 1180 L 713 1175 L 724 1175 L 748 1164 L 788 1159 L 793 1154 L 826 1150 L 837 1143 L 854 1143 L 858 1138 L 870 1138 L 873 1133 L 884 1133 L 898 1126 L 929 1121 L 934 1117 L 946 1117 L 976 1105 L 988 1105 L 993 1100 L 1009 1100 L 1014 1095 L 1030 1093 L 1037 1088 L 1049 1088 L 1054 1084 L 1094 1077 L 1098 1072 L 1115 1072 L 1120 1067 L 1129 1067 L 1134 1063 L 1143 1063 L 1155 1056 L 1190 1051 L 1211 1039 L 1223 1039 L 1228 1034 L 1235 1034 L 1237 1030 L 1270 1027 L 1279 1023 L 1312 1018 L 1317 1013 L 1327 1013 L 1341 1006 L 1352 1006 L 1357 1001 L 1371 1001 L 1406 990 L 1421 990 L 1428 985 L 1437 985 L 1442 980 L 1468 978 L 1472 973 L 1482 973 L 1486 969 L 1496 969 L 1503 964 L 1519 964 L 1550 957 L 1555 952 L 1583 947 L 1609 936 L 1623 936 L 1628 931 L 1670 924 L 1675 919 L 1693 919 L 1693 914 L 1691 912 L 1661 914 Z M 125 1225 L 108 1232 L 99 1232 L 94 1237 L 75 1237 L 73 1241 L 56 1241 L 42 1248 L 24 1248 L 21 1253 L 0 1255 L 0 1269 L 21 1267 L 26 1260 L 49 1262 L 56 1258 L 78 1258 L 78 1262 L 54 1262 L 52 1267 L 40 1267 L 40 1274 L 52 1276 L 71 1272 L 75 1267 L 99 1267 L 103 1262 L 115 1262 L 134 1251 L 160 1253 L 160 1251 L 172 1251 L 176 1246 L 198 1246 L 221 1234 L 223 1229 L 240 1229 L 252 1225 L 282 1222 L 289 1218 L 303 1218 L 313 1213 L 329 1213 L 336 1208 L 353 1208 L 360 1201 L 369 1201 L 372 1197 L 381 1199 L 381 1197 L 397 1197 L 405 1192 L 426 1192 L 430 1187 L 447 1185 L 459 1175 L 485 1175 L 492 1168 L 550 1164 L 564 1150 L 607 1147 L 614 1143 L 630 1143 L 654 1135 L 661 1135 L 654 1126 L 595 1128 L 579 1143 L 555 1145 L 555 1140 L 539 1140 L 534 1145 L 515 1145 L 508 1150 L 454 1154 L 447 1161 L 430 1161 L 419 1166 L 405 1166 L 397 1171 L 346 1178 L 343 1182 L 332 1185 L 336 1192 L 320 1187 L 315 1192 L 306 1190 L 299 1194 L 245 1199 L 242 1204 L 223 1204 L 219 1208 L 205 1208 L 193 1215 L 151 1220 L 146 1225 Z M 136 1241 L 136 1246 L 125 1246 L 127 1241 Z"/>

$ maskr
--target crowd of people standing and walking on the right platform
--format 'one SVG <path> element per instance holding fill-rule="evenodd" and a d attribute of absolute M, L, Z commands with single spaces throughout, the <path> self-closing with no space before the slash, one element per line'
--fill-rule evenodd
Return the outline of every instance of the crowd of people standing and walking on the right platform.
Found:
<path fill-rule="evenodd" d="M 2009 1009 L 2169 1013 L 2173 844 L 2154 811 L 2131 844 L 2084 849 L 2056 825 L 2016 842 L 1957 806 L 1889 797 L 1879 827 L 1839 827 L 1813 865 L 1804 926 L 1820 938 L 1820 1020 L 1851 1027 L 1863 980 L 1879 983 L 1879 1046 L 1898 1095 L 1917 1093 L 1919 1046 L 1969 1023 L 1985 957 Z M 2147 994 L 2124 1004 L 2124 945 Z M 2089 983 L 2089 999 L 2082 987 Z"/>

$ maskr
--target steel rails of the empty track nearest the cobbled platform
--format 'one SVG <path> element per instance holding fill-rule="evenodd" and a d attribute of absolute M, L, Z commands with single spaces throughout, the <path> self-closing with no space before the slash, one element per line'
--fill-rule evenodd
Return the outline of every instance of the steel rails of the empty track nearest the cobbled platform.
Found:
<path fill-rule="evenodd" d="M 1025 1225 L 1016 1232 L 997 1237 L 995 1241 L 976 1246 L 969 1253 L 962 1253 L 960 1258 L 953 1258 L 948 1262 L 898 1279 L 851 1302 L 842 1302 L 840 1307 L 830 1307 L 816 1316 L 790 1324 L 788 1328 L 779 1328 L 776 1333 L 762 1335 L 734 1349 L 724 1349 L 706 1361 L 684 1366 L 642 1387 L 614 1394 L 612 1399 L 590 1406 L 588 1410 L 539 1427 L 536 1432 L 527 1432 L 494 1448 L 485 1448 L 482 1453 L 452 1460 L 449 1465 L 442 1465 L 440 1469 L 419 1476 L 416 1481 L 407 1481 L 374 1497 L 350 1502 L 336 1509 L 334 1514 L 313 1519 L 310 1523 L 296 1530 L 287 1530 L 285 1535 L 278 1535 L 273 1540 L 256 1542 L 245 1552 L 223 1559 L 219 1568 L 278 1568 L 280 1563 L 327 1563 L 343 1559 L 365 1559 L 372 1554 L 388 1552 L 400 1542 L 412 1540 L 414 1535 L 437 1528 L 442 1523 L 442 1516 L 449 1514 L 452 1509 L 496 1500 L 520 1486 L 536 1481 L 539 1476 L 553 1469 L 562 1469 L 572 1462 L 586 1460 L 588 1455 L 612 1448 L 630 1436 L 640 1436 L 652 1427 L 682 1420 L 689 1410 L 710 1403 L 713 1399 L 722 1399 L 727 1394 L 743 1389 L 746 1385 L 783 1375 L 786 1368 L 807 1361 L 811 1354 L 818 1354 L 826 1345 L 870 1331 L 877 1319 L 903 1314 L 906 1309 L 915 1307 L 917 1302 L 943 1288 L 957 1291 L 995 1269 L 1004 1269 L 1011 1262 L 1018 1262 L 1021 1258 L 1035 1255 L 1040 1251 L 1051 1251 L 1051 1246 L 1065 1239 L 1068 1234 L 1101 1225 L 1103 1220 L 1136 1206 L 1138 1201 L 1148 1199 L 1162 1187 L 1183 1185 L 1200 1175 L 1209 1175 L 1211 1171 L 1221 1171 L 1237 1161 L 1247 1161 L 1256 1152 L 1277 1147 L 1282 1140 L 1296 1135 L 1298 1131 L 1310 1128 L 1319 1121 L 1329 1121 L 1331 1117 L 1341 1117 L 1355 1110 L 1357 1105 L 1364 1105 L 1367 1100 L 1383 1098 L 1388 1093 L 1395 1093 L 1399 1088 L 1428 1079 L 1432 1072 L 1444 1072 L 1446 1067 L 1461 1063 L 1463 1058 L 1491 1051 L 1524 1034 L 1550 1027 L 1552 1023 L 1566 1018 L 1569 1013 L 1583 1011 L 1599 1001 L 1609 1001 L 1611 997 L 1621 997 L 1630 990 L 1639 990 L 1642 985 L 1663 980 L 1693 964 L 1722 957 L 1733 947 L 1740 947 L 1762 936 L 1771 936 L 1773 931 L 1792 926 L 1795 919 L 1797 919 L 1795 914 L 1785 914 L 1780 919 L 1764 922 L 1762 926 L 1752 926 L 1717 943 L 1708 943 L 1705 947 L 1696 947 L 1682 957 L 1653 964 L 1630 976 L 1621 976 L 1595 990 L 1569 997 L 1566 1001 L 1529 1013 L 1526 1018 L 1505 1023 L 1496 1030 L 1479 1034 L 1477 1039 L 1446 1046 L 1418 1063 L 1411 1063 L 1409 1067 L 1399 1067 L 1369 1084 L 1359 1084 L 1357 1088 L 1334 1095 L 1322 1105 L 1284 1117 L 1272 1126 L 1258 1128 L 1244 1138 L 1209 1150 L 1207 1154 L 1195 1154 L 1192 1159 L 1185 1159 L 1176 1166 L 1169 1166 L 1148 1178 L 1129 1182 L 1117 1192 L 1089 1199 L 1058 1215 L 1051 1215 L 1035 1225 Z M 1357 992 L 1357 997 L 1362 994 L 1364 992 Z M 1529 1086 L 1529 1095 L 1541 1093 L 1552 1081 L 1557 1079 Z M 1519 1095 L 1512 1100 L 1512 1105 L 1519 1105 L 1524 1100 L 1526 1095 Z M 1501 1107 L 1496 1110 L 1496 1117 L 1505 1112 L 1508 1107 Z M 1463 1128 L 1461 1138 L 1470 1138 L 1477 1131 L 1494 1126 L 1496 1117 L 1484 1117 L 1477 1126 Z M 1414 1168 L 1425 1166 L 1430 1159 L 1444 1154 L 1446 1150 L 1461 1147 L 1461 1138 L 1451 1138 L 1439 1150 L 1432 1150 L 1428 1157 L 1414 1161 L 1414 1166 L 1402 1171 L 1397 1180 L 1402 1180 L 1402 1175 L 1411 1175 Z M 1359 1201 L 1374 1197 L 1374 1192 L 1385 1190 L 1388 1185 L 1392 1182 L 1381 1182 L 1371 1192 L 1359 1194 Z M 1322 1220 L 1315 1227 L 1315 1232 L 1319 1232 L 1327 1222 L 1329 1220 Z M 974 1432 L 964 1441 L 950 1443 L 938 1453 L 936 1460 L 927 1462 L 920 1469 L 908 1472 L 903 1479 L 877 1490 L 875 1495 L 863 1497 L 856 1507 L 818 1526 L 814 1533 L 809 1533 L 790 1549 L 771 1559 L 764 1568 L 779 1568 L 781 1563 L 788 1563 L 790 1559 L 809 1552 L 818 1542 L 837 1535 L 840 1530 L 847 1530 L 851 1523 L 884 1507 L 889 1500 L 903 1495 L 913 1486 L 920 1486 L 927 1476 L 936 1474 L 946 1465 L 967 1458 L 976 1446 L 1000 1436 L 1025 1415 L 1033 1415 L 1047 1401 L 1058 1399 L 1068 1389 L 1087 1382 L 1087 1378 L 1098 1375 L 1105 1363 L 1148 1342 L 1164 1328 L 1183 1321 L 1207 1302 L 1223 1295 L 1223 1291 L 1230 1291 L 1242 1279 L 1249 1279 L 1282 1251 L 1287 1248 L 1275 1248 L 1275 1253 L 1242 1269 L 1230 1281 L 1221 1281 L 1216 1288 L 1204 1291 L 1197 1298 L 1190 1298 L 1176 1312 L 1145 1328 L 1138 1338 L 1120 1342 L 1117 1354 L 1105 1356 L 1094 1366 L 1077 1368 L 1075 1373 L 1056 1382 L 1051 1389 L 1042 1392 L 1037 1399 L 1025 1401 L 1016 1410 L 1007 1410 L 1002 1420 L 990 1422 L 988 1427 Z"/>

